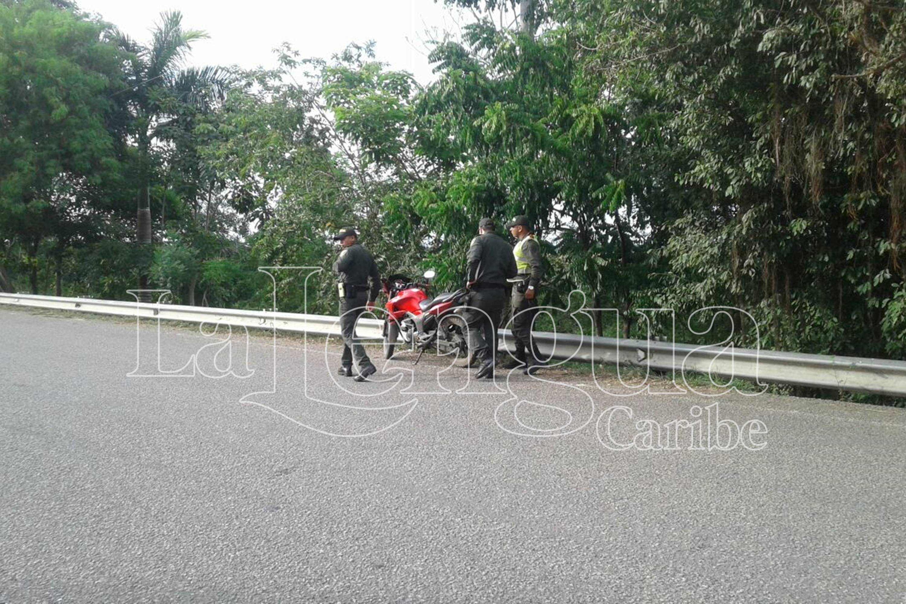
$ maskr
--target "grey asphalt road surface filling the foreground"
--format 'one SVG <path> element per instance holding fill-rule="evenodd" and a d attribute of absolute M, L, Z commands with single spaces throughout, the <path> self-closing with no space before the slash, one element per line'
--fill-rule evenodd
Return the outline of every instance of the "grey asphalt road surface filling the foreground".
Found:
<path fill-rule="evenodd" d="M 155 334 L 0 310 L 0 602 L 906 602 L 906 410 Z"/>

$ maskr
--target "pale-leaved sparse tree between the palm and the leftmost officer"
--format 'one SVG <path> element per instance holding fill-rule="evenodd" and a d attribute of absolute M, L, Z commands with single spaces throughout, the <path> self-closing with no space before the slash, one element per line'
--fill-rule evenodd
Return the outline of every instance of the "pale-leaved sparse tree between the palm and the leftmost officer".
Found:
<path fill-rule="evenodd" d="M 249 246 L 243 262 L 262 279 L 255 282 L 254 297 L 244 302 L 255 308 L 271 303 L 271 284 L 255 273 L 256 266 L 329 269 L 328 241 L 352 216 L 355 198 L 354 177 L 338 166 L 329 147 L 333 124 L 325 119 L 320 78 L 310 74 L 294 81 L 291 71 L 300 65 L 295 57 L 284 46 L 276 69 L 236 74 L 236 86 L 211 122 L 207 143 L 199 147 L 207 169 L 224 183 L 224 205 L 244 217 L 245 226 L 236 225 Z M 217 266 L 211 275 L 231 270 Z M 275 276 L 283 310 L 301 311 L 305 292 L 298 275 Z M 310 298 L 323 302 L 322 312 L 333 312 L 326 302 L 333 301 L 328 283 L 322 282 L 309 283 Z"/>

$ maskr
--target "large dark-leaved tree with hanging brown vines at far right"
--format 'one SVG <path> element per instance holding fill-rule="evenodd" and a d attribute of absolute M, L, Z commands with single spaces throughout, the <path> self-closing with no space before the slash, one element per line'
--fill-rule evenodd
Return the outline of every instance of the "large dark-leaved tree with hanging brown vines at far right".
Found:
<path fill-rule="evenodd" d="M 903 7 L 581 4 L 586 72 L 669 116 L 687 194 L 660 302 L 735 304 L 770 347 L 881 354 L 906 276 Z"/>

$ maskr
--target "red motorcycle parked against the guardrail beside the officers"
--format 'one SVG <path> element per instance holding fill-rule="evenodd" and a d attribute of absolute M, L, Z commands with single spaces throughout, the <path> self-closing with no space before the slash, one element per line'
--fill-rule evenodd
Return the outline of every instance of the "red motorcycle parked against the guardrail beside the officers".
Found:
<path fill-rule="evenodd" d="M 427 282 L 434 278 L 434 271 L 424 274 Z M 438 340 L 448 344 L 448 350 L 458 349 L 467 353 L 466 321 L 456 311 L 467 303 L 465 288 L 456 292 L 441 293 L 431 298 L 429 283 L 413 283 L 401 274 L 390 275 L 383 281 L 387 294 L 387 318 L 384 319 L 384 358 L 390 359 L 398 339 L 422 353 Z"/>

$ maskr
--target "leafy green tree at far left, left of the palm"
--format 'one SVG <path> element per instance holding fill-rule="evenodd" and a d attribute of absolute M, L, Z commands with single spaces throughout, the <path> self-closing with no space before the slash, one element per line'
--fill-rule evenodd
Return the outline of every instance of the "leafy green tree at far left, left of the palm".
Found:
<path fill-rule="evenodd" d="M 87 236 L 102 203 L 92 191 L 119 170 L 120 54 L 105 29 L 45 0 L 0 5 L 0 263 L 24 249 L 34 293 L 44 239 L 56 237 L 59 260 Z M 58 293 L 60 273 L 58 262 Z M 4 267 L 0 287 L 14 287 Z"/>

